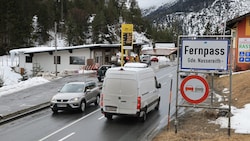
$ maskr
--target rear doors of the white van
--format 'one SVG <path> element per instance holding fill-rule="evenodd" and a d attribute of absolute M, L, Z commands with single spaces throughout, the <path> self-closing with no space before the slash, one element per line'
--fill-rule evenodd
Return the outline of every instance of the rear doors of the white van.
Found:
<path fill-rule="evenodd" d="M 104 111 L 136 114 L 138 83 L 134 79 L 106 78 L 103 87 Z"/>

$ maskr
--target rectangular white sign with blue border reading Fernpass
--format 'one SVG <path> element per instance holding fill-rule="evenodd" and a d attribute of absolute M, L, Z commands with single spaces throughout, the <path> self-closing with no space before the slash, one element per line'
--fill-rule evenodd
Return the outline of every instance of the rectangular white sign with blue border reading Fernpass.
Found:
<path fill-rule="evenodd" d="M 227 70 L 229 40 L 182 40 L 181 69 Z"/>

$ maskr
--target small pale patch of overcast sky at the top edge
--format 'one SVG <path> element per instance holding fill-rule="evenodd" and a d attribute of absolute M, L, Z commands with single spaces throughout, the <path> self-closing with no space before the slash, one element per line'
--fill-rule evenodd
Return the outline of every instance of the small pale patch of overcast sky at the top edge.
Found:
<path fill-rule="evenodd" d="M 160 6 L 165 3 L 171 2 L 174 0 L 137 0 L 140 8 L 148 8 L 151 6 Z"/>

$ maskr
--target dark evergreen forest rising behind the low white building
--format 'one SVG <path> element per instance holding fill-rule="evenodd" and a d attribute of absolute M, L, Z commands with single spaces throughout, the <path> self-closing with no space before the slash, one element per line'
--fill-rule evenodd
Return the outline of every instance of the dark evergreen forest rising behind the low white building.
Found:
<path fill-rule="evenodd" d="M 120 17 L 124 23 L 134 24 L 135 31 L 147 32 L 146 35 L 153 31 L 142 18 L 136 0 L 130 1 L 129 8 L 124 0 L 0 0 L 0 3 L 0 55 L 15 48 L 45 44 L 53 39 L 49 33 L 54 31 L 55 22 L 69 45 L 85 44 L 87 40 L 91 43 L 90 38 L 92 43 L 120 42 L 117 38 Z M 89 22 L 92 15 L 94 20 Z"/>

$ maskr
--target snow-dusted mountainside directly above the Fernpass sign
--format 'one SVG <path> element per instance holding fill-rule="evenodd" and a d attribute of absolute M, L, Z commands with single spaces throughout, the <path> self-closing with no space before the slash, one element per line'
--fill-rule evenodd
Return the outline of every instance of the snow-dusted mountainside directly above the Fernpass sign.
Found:
<path fill-rule="evenodd" d="M 203 35 L 205 32 L 223 34 L 225 22 L 250 12 L 249 6 L 245 0 L 231 0 L 228 3 L 216 0 L 211 6 L 200 12 L 187 13 L 183 17 L 185 31 L 194 35 Z"/>

